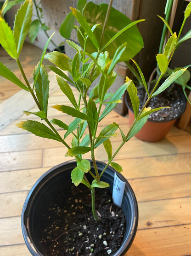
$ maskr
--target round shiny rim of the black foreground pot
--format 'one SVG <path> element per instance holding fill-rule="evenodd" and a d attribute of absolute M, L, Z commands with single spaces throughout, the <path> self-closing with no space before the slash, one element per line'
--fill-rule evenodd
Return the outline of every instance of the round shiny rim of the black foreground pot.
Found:
<path fill-rule="evenodd" d="M 89 160 L 91 162 L 91 166 L 92 166 L 92 161 Z M 98 166 L 103 166 L 106 165 L 104 162 L 101 161 L 96 161 Z M 30 253 L 34 256 L 44 256 L 44 254 L 41 254 L 37 248 L 35 248 L 34 244 L 31 242 L 30 238 L 29 238 L 29 234 L 28 234 L 28 227 L 29 227 L 29 220 L 27 218 L 27 220 L 25 220 L 25 214 L 26 214 L 26 210 L 29 207 L 29 204 L 31 204 L 32 202 L 30 202 L 30 198 L 31 196 L 33 196 L 35 190 L 37 189 L 37 187 L 39 186 L 39 184 L 41 182 L 43 182 L 43 180 L 45 180 L 48 176 L 50 176 L 50 173 L 55 172 L 57 169 L 60 169 L 62 167 L 66 167 L 66 166 L 70 166 L 70 165 L 75 165 L 76 161 L 66 161 L 63 162 L 59 165 L 56 165 L 55 167 L 52 167 L 51 169 L 49 169 L 47 172 L 45 172 L 33 185 L 32 189 L 29 191 L 28 196 L 24 202 L 23 208 L 22 208 L 22 219 L 21 219 L 21 225 L 22 225 L 22 234 L 25 240 L 25 243 L 28 247 L 28 250 L 30 251 Z M 98 167 L 99 169 L 99 167 Z M 71 170 L 71 168 L 70 168 Z M 114 176 L 114 173 L 117 173 L 118 177 L 125 182 L 125 191 L 124 191 L 124 195 L 128 194 L 127 196 L 130 196 L 131 201 L 133 203 L 133 209 L 131 208 L 131 212 L 132 212 L 132 217 L 131 217 L 131 227 L 129 228 L 129 232 L 128 229 L 126 227 L 125 229 L 125 235 L 127 238 L 125 238 L 124 235 L 124 240 L 121 244 L 121 246 L 118 248 L 118 250 L 113 254 L 113 256 L 123 256 L 125 255 L 125 253 L 127 252 L 127 250 L 129 250 L 131 244 L 133 243 L 133 240 L 135 238 L 135 234 L 137 231 L 137 226 L 138 226 L 138 204 L 136 201 L 136 197 L 135 197 L 135 193 L 132 190 L 129 182 L 124 178 L 124 176 L 121 173 L 118 173 L 117 171 L 115 171 L 115 169 L 111 166 L 107 167 L 106 169 L 106 174 L 107 174 L 107 170 L 110 176 Z M 59 173 L 62 171 L 59 171 Z M 113 173 L 113 175 L 111 174 Z M 56 175 L 56 174 L 55 174 Z M 126 193 L 126 194 L 125 194 Z M 125 201 L 125 200 L 124 200 Z M 129 204 L 132 204 L 129 203 Z M 132 207 L 132 205 L 131 205 Z M 123 205 L 122 205 L 123 208 Z M 126 218 L 126 217 L 125 217 Z M 126 218 L 127 220 L 127 218 Z M 25 224 L 26 222 L 26 224 Z M 27 228 L 26 228 L 27 226 Z"/>

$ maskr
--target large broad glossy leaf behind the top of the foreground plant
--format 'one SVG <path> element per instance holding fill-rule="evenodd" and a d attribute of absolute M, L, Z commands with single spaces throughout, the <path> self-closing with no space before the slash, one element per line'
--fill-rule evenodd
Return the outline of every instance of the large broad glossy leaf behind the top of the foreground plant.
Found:
<path fill-rule="evenodd" d="M 98 42 L 100 41 L 100 38 L 101 38 L 101 32 L 102 32 L 103 24 L 106 18 L 107 7 L 108 7 L 107 4 L 96 5 L 92 2 L 89 2 L 84 6 L 84 9 L 83 9 L 83 15 L 87 20 L 87 22 L 90 24 L 90 27 L 93 27 L 94 24 L 101 24 L 97 26 L 96 29 L 94 30 L 94 35 L 96 36 Z M 115 36 L 120 30 L 122 30 L 125 26 L 127 26 L 131 22 L 132 21 L 129 18 L 127 18 L 123 13 L 112 8 L 109 19 L 108 19 L 107 27 L 106 27 L 106 32 L 102 41 L 102 47 L 113 36 Z M 78 38 L 79 38 L 80 44 L 84 46 L 83 39 L 79 35 L 79 33 L 78 33 Z M 143 47 L 143 40 L 136 26 L 133 26 L 128 30 L 124 31 L 111 44 L 107 46 L 106 50 L 109 52 L 111 59 L 115 54 L 115 50 L 125 42 L 128 42 L 128 44 L 124 51 L 124 54 L 120 58 L 120 61 L 129 60 L 133 58 Z M 96 51 L 96 48 L 90 42 L 89 38 L 86 43 L 86 50 L 92 53 Z"/>

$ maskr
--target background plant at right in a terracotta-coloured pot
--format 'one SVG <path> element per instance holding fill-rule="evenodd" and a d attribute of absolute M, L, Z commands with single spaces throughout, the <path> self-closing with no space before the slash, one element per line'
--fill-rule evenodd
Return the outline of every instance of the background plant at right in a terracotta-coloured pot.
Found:
<path fill-rule="evenodd" d="M 166 8 L 165 8 L 165 15 L 166 15 L 165 19 L 160 17 L 164 22 L 164 28 L 161 36 L 160 47 L 159 47 L 160 55 L 158 54 L 157 58 L 161 56 L 160 58 L 163 59 L 163 61 L 166 63 L 166 66 L 169 65 L 169 62 L 172 59 L 173 54 L 175 53 L 177 48 L 180 46 L 180 44 L 185 40 L 188 40 L 189 38 L 191 38 L 191 31 L 188 31 L 188 33 L 185 36 L 180 38 L 181 32 L 185 25 L 185 21 L 190 16 L 190 13 L 191 13 L 191 3 L 189 3 L 185 9 L 184 20 L 180 26 L 180 31 L 178 34 L 173 33 L 168 24 L 169 18 L 171 16 L 174 17 L 175 15 L 174 13 L 175 10 L 171 11 L 172 4 L 173 4 L 173 0 L 167 1 Z M 174 46 L 172 46 L 171 49 L 168 48 L 169 47 L 168 44 L 166 45 L 166 48 L 164 48 L 165 37 L 168 36 L 167 29 L 169 29 L 170 35 L 171 35 L 168 41 L 169 44 L 170 44 L 170 41 L 172 40 L 174 41 Z M 143 74 L 141 73 L 138 74 L 134 69 L 134 67 L 129 64 L 129 62 L 126 62 L 126 64 L 135 75 L 135 78 L 137 78 L 138 82 L 136 83 L 137 83 L 137 88 L 139 90 L 139 96 L 141 101 L 140 106 L 143 106 L 144 103 L 146 102 L 147 90 L 149 93 L 152 91 L 156 83 L 158 83 L 158 78 L 159 80 L 168 78 L 169 75 L 171 75 L 172 73 L 180 69 L 180 67 L 178 67 L 172 70 L 169 67 L 167 67 L 167 69 L 163 71 L 161 70 L 160 66 L 157 65 L 157 67 L 152 72 L 149 81 L 147 81 L 146 83 L 144 80 L 145 84 L 143 84 L 140 79 L 140 75 L 143 76 Z M 188 65 L 188 66 L 185 66 L 184 68 L 186 67 L 188 68 L 190 66 L 191 65 Z M 152 115 L 150 115 L 148 121 L 143 126 L 141 131 L 139 131 L 136 134 L 137 138 L 144 141 L 156 142 L 166 137 L 167 133 L 169 132 L 170 128 L 174 125 L 175 121 L 182 115 L 182 113 L 184 113 L 185 107 L 186 107 L 186 99 L 191 104 L 186 94 L 186 90 L 191 90 L 191 86 L 188 84 L 188 82 L 190 81 L 190 78 L 191 78 L 191 74 L 190 74 L 190 71 L 187 69 L 185 73 L 182 74 L 179 78 L 177 78 L 168 89 L 165 89 L 162 94 L 153 98 L 149 102 L 148 106 L 150 107 L 169 106 L 170 109 L 166 108 L 158 111 L 157 113 L 152 113 Z M 144 87 L 144 85 L 146 87 Z M 129 101 L 128 94 L 126 94 L 125 96 L 125 101 L 126 101 L 126 105 L 129 108 L 129 125 L 131 125 L 134 121 L 134 113 L 133 113 L 132 105 Z"/>

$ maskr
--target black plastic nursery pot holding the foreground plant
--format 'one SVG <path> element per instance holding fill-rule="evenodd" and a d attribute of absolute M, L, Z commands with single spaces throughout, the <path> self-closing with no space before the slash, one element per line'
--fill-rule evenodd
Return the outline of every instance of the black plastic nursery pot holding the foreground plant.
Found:
<path fill-rule="evenodd" d="M 105 163 L 97 161 L 98 170 L 101 173 Z M 42 215 L 48 208 L 49 202 L 64 188 L 72 185 L 71 171 L 76 167 L 76 162 L 65 162 L 51 168 L 43 174 L 34 184 L 29 192 L 22 209 L 22 233 L 27 244 L 28 250 L 33 256 L 46 256 L 46 253 L 40 242 L 40 234 L 43 232 Z M 94 171 L 91 163 L 91 170 Z M 102 176 L 103 181 L 109 183 L 112 191 L 115 170 L 107 167 Z M 118 177 L 125 182 L 124 198 L 122 209 L 126 219 L 126 230 L 121 247 L 113 256 L 123 256 L 132 244 L 138 225 L 138 206 L 135 194 L 127 180 L 118 173 Z M 62 192 L 63 193 L 63 192 Z M 67 195 L 63 194 L 63 201 L 66 202 Z"/>

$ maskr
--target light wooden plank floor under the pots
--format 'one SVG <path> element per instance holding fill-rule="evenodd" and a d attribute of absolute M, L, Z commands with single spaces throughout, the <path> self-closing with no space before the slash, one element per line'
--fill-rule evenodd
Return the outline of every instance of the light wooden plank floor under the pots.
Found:
<path fill-rule="evenodd" d="M 49 106 L 67 103 L 50 74 Z M 21 231 L 24 200 L 45 171 L 68 160 L 64 157 L 66 149 L 58 142 L 15 126 L 26 119 L 22 110 L 31 109 L 35 109 L 34 103 L 22 90 L 0 105 L 0 256 L 30 255 Z M 67 115 L 53 108 L 49 116 L 71 122 Z M 102 125 L 112 121 L 128 129 L 128 116 L 113 111 Z M 119 139 L 120 136 L 112 139 L 113 148 Z M 107 160 L 102 149 L 96 152 L 96 157 Z M 127 255 L 191 256 L 191 134 L 173 127 L 158 143 L 132 138 L 115 161 L 124 168 L 123 175 L 135 191 L 139 205 L 138 231 Z"/>

